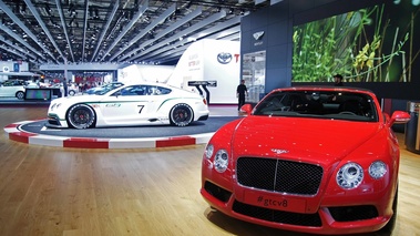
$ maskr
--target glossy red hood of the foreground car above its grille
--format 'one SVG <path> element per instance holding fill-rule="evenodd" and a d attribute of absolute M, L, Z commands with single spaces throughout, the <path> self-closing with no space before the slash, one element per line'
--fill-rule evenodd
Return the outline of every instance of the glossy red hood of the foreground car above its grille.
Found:
<path fill-rule="evenodd" d="M 346 157 L 382 127 L 378 122 L 248 116 L 235 129 L 233 152 L 328 164 Z"/>

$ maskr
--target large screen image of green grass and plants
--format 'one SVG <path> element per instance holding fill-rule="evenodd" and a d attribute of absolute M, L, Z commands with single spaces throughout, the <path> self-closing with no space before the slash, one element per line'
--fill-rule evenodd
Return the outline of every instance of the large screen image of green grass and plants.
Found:
<path fill-rule="evenodd" d="M 420 75 L 420 8 L 379 4 L 294 27 L 293 82 L 410 82 Z"/>

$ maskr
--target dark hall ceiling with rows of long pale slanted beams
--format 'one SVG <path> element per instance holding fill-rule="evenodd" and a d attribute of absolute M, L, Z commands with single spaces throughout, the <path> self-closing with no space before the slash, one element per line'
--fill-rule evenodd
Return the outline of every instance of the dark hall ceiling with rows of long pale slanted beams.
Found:
<path fill-rule="evenodd" d="M 239 40 L 253 0 L 0 0 L 1 61 L 174 64 L 199 39 Z"/>

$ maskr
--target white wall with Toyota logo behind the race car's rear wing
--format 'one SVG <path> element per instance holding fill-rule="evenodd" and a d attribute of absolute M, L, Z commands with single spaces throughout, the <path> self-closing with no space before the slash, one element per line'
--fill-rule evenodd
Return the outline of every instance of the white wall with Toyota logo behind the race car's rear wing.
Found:
<path fill-rule="evenodd" d="M 209 94 L 203 95 L 209 95 L 212 104 L 234 104 L 237 103 L 236 86 L 240 79 L 239 61 L 239 42 L 199 40 L 185 50 L 167 84 L 199 92 L 188 82 L 211 82 L 206 86 Z M 205 93 L 204 90 L 202 92 Z"/>

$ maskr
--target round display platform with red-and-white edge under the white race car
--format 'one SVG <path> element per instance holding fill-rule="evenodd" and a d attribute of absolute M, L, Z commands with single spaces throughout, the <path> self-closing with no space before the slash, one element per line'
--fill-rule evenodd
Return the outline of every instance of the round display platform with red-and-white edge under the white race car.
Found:
<path fill-rule="evenodd" d="M 9 138 L 27 143 L 80 148 L 143 148 L 205 144 L 222 125 L 239 116 L 214 116 L 185 127 L 171 125 L 96 127 L 86 130 L 51 129 L 47 120 L 9 124 Z"/>

